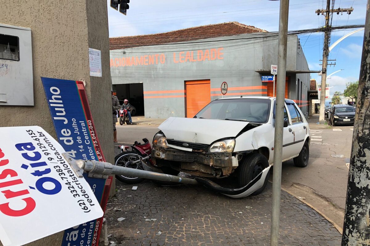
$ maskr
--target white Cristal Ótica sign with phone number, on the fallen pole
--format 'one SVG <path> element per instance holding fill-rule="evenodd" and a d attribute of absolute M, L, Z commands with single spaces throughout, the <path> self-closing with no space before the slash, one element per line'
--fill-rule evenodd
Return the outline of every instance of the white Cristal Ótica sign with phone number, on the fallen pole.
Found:
<path fill-rule="evenodd" d="M 41 127 L 0 127 L 4 246 L 24 245 L 103 216 L 87 181 L 77 177 L 62 153 L 64 149 Z"/>

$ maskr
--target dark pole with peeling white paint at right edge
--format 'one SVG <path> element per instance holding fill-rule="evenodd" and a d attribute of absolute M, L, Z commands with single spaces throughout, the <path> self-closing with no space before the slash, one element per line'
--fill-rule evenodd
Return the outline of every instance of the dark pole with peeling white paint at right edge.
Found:
<path fill-rule="evenodd" d="M 357 91 L 342 246 L 370 245 L 370 0 Z"/>

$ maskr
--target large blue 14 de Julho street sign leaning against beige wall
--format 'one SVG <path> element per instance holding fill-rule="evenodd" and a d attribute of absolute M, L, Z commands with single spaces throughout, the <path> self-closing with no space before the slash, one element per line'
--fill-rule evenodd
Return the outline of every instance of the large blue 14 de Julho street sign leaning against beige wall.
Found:
<path fill-rule="evenodd" d="M 58 142 L 74 159 L 105 161 L 83 83 L 41 77 Z M 110 180 L 91 179 L 84 173 L 92 191 L 105 210 Z M 102 218 L 64 231 L 62 246 L 98 245 Z"/>

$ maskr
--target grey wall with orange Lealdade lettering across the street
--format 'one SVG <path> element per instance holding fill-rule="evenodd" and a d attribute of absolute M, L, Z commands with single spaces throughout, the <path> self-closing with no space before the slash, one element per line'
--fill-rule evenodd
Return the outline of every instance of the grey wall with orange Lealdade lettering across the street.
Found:
<path fill-rule="evenodd" d="M 235 87 L 262 86 L 261 75 L 256 70 L 270 70 L 271 64 L 277 63 L 277 37 L 269 37 L 269 33 L 257 34 L 258 38 L 238 41 L 217 40 L 209 42 L 189 41 L 176 44 L 142 46 L 137 48 L 110 51 L 111 76 L 113 84 L 143 83 L 145 117 L 167 118 L 185 116 L 184 93 L 166 93 L 185 89 L 186 80 L 211 80 L 211 100 L 221 96 L 221 83 L 226 81 L 229 90 L 225 97 L 239 96 L 238 93 L 259 92 L 254 96 L 263 96 L 266 89 L 237 90 Z M 236 35 L 238 36 L 238 35 Z M 253 34 L 256 37 L 256 34 Z M 211 49 L 221 49 L 223 53 L 215 59 L 198 61 L 198 51 L 205 53 Z M 184 62 L 180 62 L 180 52 Z M 186 52 L 193 52 L 193 60 L 186 60 Z M 287 49 L 287 69 L 296 70 L 297 36 L 290 35 Z M 146 65 L 144 61 L 134 64 L 130 59 L 141 56 L 148 59 L 151 55 L 165 56 L 165 60 L 155 60 L 155 64 Z M 175 54 L 175 58 L 174 58 Z M 214 57 L 213 57 L 214 58 Z M 159 58 L 158 58 L 159 59 Z M 195 61 L 196 60 L 196 61 Z M 130 61 L 130 62 L 129 62 Z M 136 62 L 136 60 L 135 60 Z M 212 91 L 212 89 L 214 89 Z M 154 94 L 145 92 L 157 91 Z M 232 94 L 235 93 L 235 94 Z M 153 97 L 158 96 L 158 97 Z M 165 97 L 162 97 L 165 96 Z M 173 97 L 168 97 L 173 96 Z M 178 96 L 178 97 L 175 97 Z M 295 96 L 295 95 L 294 95 Z M 292 98 L 296 99 L 296 98 Z"/>

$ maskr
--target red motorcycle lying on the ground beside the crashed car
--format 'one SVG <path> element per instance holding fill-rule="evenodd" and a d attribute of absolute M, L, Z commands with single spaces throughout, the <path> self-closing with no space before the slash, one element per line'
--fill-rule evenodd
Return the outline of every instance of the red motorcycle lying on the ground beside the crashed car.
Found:
<path fill-rule="evenodd" d="M 121 149 L 121 153 L 114 157 L 114 164 L 116 166 L 141 170 L 144 170 L 142 161 L 145 161 L 148 164 L 153 164 L 151 160 L 152 146 L 148 139 L 143 138 L 142 141 L 144 141 L 143 144 L 135 141 L 134 145 L 131 146 L 131 151 L 128 151 L 130 146 L 120 145 L 119 148 Z M 144 180 L 142 178 L 124 175 L 116 175 L 116 178 L 126 184 L 136 184 Z"/>

